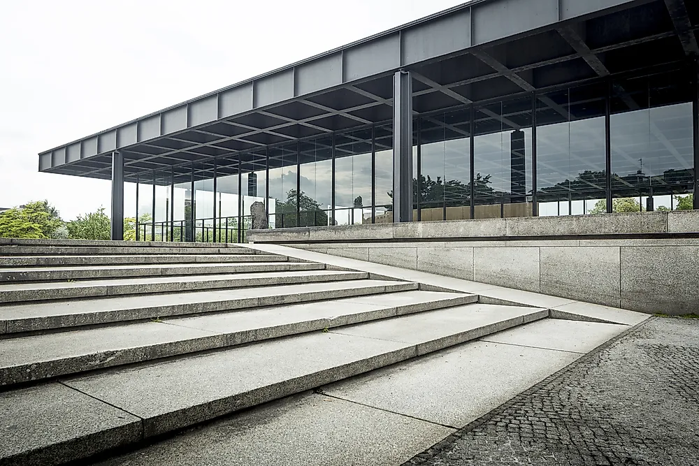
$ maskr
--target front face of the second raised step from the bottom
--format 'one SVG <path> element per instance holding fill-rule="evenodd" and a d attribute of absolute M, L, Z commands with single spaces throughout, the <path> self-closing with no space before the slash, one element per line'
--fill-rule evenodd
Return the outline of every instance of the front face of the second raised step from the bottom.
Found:
<path fill-rule="evenodd" d="M 363 323 L 377 319 L 387 319 L 389 317 L 414 314 L 430 310 L 442 309 L 458 305 L 475 303 L 477 296 L 461 296 L 459 298 L 431 301 L 428 303 L 415 303 L 410 305 L 387 307 L 380 310 L 359 312 L 338 316 L 335 319 L 315 319 L 289 323 L 266 328 L 255 328 L 240 332 L 225 333 L 221 335 L 211 335 L 192 340 L 182 340 L 179 342 L 168 342 L 154 344 L 147 347 L 131 349 L 121 349 L 118 351 L 104 351 L 99 354 L 89 356 L 78 356 L 75 358 L 64 358 L 58 361 L 46 363 L 33 363 L 16 367 L 0 369 L 0 386 L 21 384 L 28 381 L 57 377 L 67 374 L 77 374 L 87 370 L 102 369 L 117 365 L 151 361 L 168 356 L 178 356 L 182 354 L 194 353 L 196 351 L 206 351 L 208 349 L 232 347 L 237 344 L 260 342 L 271 338 L 286 337 L 299 333 L 323 330 L 324 328 L 336 328 L 348 326 L 356 323 Z M 165 323 L 148 323 L 147 325 L 167 325 Z M 177 325 L 176 321 L 173 325 Z"/>

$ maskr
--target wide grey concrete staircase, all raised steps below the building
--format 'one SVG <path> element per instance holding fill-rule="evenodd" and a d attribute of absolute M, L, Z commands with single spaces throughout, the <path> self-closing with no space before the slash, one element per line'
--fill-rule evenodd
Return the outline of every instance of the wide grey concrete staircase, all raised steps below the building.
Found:
<path fill-rule="evenodd" d="M 0 465 L 108 456 L 547 315 L 236 245 L 4 240 Z"/>

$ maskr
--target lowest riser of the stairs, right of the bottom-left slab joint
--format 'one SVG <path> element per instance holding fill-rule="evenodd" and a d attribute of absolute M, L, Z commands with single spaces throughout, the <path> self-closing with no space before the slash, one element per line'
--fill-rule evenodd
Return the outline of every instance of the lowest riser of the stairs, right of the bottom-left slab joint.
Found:
<path fill-rule="evenodd" d="M 528 321 L 544 319 L 548 316 L 547 311 L 538 312 L 535 316 L 531 316 Z M 261 388 L 254 389 L 250 392 L 235 395 L 229 398 L 214 400 L 204 403 L 203 405 L 183 409 L 178 412 L 168 413 L 161 416 L 143 419 L 143 435 L 145 438 L 155 435 L 162 435 L 173 430 L 186 428 L 196 423 L 209 421 L 212 418 L 230 414 L 253 406 L 261 405 L 266 402 L 278 400 L 285 396 L 294 395 L 302 391 L 312 390 L 319 386 L 331 384 L 336 381 L 354 377 L 364 372 L 379 369 L 407 361 L 410 358 L 415 358 L 421 354 L 428 354 L 433 351 L 439 351 L 456 344 L 475 340 L 491 333 L 496 333 L 500 330 L 507 330 L 522 325 L 524 319 L 509 319 L 507 321 L 498 322 L 496 324 L 485 326 L 485 328 L 477 328 L 468 332 L 459 333 L 453 337 L 440 338 L 432 342 L 426 342 L 418 345 L 412 345 L 391 351 L 385 354 L 380 354 L 372 358 L 367 358 L 362 361 L 355 361 L 346 365 L 332 367 L 327 370 L 308 374 L 303 377 L 291 379 Z"/>

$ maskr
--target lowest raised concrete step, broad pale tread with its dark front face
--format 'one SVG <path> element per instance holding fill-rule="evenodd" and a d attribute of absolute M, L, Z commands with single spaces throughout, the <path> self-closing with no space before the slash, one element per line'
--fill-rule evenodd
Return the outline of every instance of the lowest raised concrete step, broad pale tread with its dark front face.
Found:
<path fill-rule="evenodd" d="M 55 465 L 123 449 L 547 315 L 462 305 L 19 388 L 0 404 L 0 462 Z"/>

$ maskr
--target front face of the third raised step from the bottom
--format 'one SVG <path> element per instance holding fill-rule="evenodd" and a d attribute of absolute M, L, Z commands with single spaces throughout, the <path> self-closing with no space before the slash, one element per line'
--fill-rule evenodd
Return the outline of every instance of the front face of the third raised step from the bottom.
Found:
<path fill-rule="evenodd" d="M 347 288 L 326 291 L 311 291 L 308 293 L 296 293 L 291 295 L 271 295 L 259 298 L 238 298 L 235 300 L 212 301 L 208 303 L 187 303 L 183 305 L 168 305 L 157 307 L 143 307 L 140 309 L 116 310 L 105 312 L 90 312 L 85 314 L 66 314 L 62 316 L 38 317 L 32 319 L 15 319 L 0 321 L 0 333 L 4 328 L 5 333 L 22 333 L 37 330 L 52 330 L 78 326 L 89 326 L 101 323 L 113 323 L 140 319 L 153 319 L 155 317 L 185 316 L 189 314 L 206 314 L 207 312 L 231 311 L 247 309 L 250 307 L 265 307 L 283 304 L 305 303 L 307 301 L 329 300 L 364 296 L 377 293 L 391 293 L 394 291 L 416 290 L 417 284 L 408 283 L 366 286 L 359 289 Z"/>

